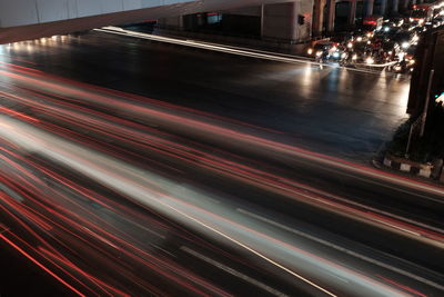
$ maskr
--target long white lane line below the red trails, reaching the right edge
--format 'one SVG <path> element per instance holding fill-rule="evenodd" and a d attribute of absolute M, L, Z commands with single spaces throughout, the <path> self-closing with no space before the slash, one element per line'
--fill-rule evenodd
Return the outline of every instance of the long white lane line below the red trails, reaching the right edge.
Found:
<path fill-rule="evenodd" d="M 238 208 L 236 211 L 238 211 L 238 212 L 241 212 L 241 214 L 243 214 L 243 215 L 250 216 L 250 217 L 252 217 L 252 218 L 255 218 L 255 219 L 258 219 L 258 220 L 262 220 L 262 221 L 264 221 L 264 222 L 268 222 L 268 224 L 270 224 L 270 225 L 273 225 L 273 226 L 279 227 L 279 228 L 281 228 L 281 229 L 284 229 L 284 230 L 286 230 L 286 231 L 296 234 L 296 235 L 299 235 L 299 236 L 301 236 L 301 237 L 305 237 L 305 238 L 307 238 L 307 239 L 311 239 L 311 240 L 316 241 L 316 242 L 319 242 L 319 244 L 322 244 L 322 245 L 324 245 L 324 246 L 331 247 L 331 248 L 333 248 L 333 249 L 336 249 L 336 250 L 339 250 L 339 251 L 342 251 L 342 253 L 344 253 L 344 254 L 347 254 L 347 255 L 353 256 L 353 257 L 355 257 L 355 258 L 359 258 L 359 259 L 361 259 L 361 260 L 364 260 L 364 261 L 367 261 L 367 263 L 377 265 L 377 266 L 380 266 L 380 267 L 386 268 L 386 269 L 392 270 L 392 271 L 394 271 L 394 273 L 397 273 L 397 274 L 401 274 L 401 275 L 403 275 L 403 276 L 413 278 L 413 279 L 415 279 L 415 280 L 417 280 L 417 281 L 421 281 L 421 283 L 423 283 L 423 284 L 426 284 L 426 285 L 428 285 L 428 286 L 432 286 L 432 287 L 435 287 L 435 288 L 437 288 L 437 289 L 444 290 L 444 286 L 442 286 L 442 285 L 440 285 L 440 284 L 436 284 L 436 283 L 431 281 L 431 280 L 428 280 L 428 279 L 425 279 L 425 278 L 423 278 L 423 277 L 416 276 L 416 275 L 411 274 L 411 273 L 408 273 L 408 271 L 402 270 L 402 269 L 396 268 L 396 267 L 394 267 L 394 266 L 387 265 L 387 264 L 385 264 L 385 263 L 375 260 L 375 259 L 370 258 L 370 257 L 367 257 L 367 256 L 361 255 L 361 254 L 359 254 L 359 253 L 356 253 L 356 251 L 353 251 L 353 250 L 351 250 L 351 249 L 343 248 L 343 247 L 341 247 L 341 246 L 337 246 L 337 245 L 332 244 L 332 242 L 330 242 L 330 241 L 326 241 L 326 240 L 324 240 L 324 239 L 321 239 L 321 238 L 314 237 L 314 236 L 312 236 L 312 235 L 309 235 L 309 234 L 306 234 L 306 232 L 303 232 L 303 231 L 293 229 L 293 228 L 291 228 L 291 227 L 287 227 L 287 226 L 285 226 L 285 225 L 282 225 L 282 224 L 280 224 L 280 222 L 278 222 L 278 221 L 274 221 L 274 220 L 264 218 L 264 217 L 262 217 L 262 216 L 260 216 L 260 215 L 250 212 L 250 211 L 244 210 L 244 209 L 242 209 L 242 208 Z"/>

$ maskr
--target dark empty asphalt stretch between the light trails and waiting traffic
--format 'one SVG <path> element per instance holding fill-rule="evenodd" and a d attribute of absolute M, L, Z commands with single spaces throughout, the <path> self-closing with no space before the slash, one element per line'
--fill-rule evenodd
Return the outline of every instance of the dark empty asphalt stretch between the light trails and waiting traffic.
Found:
<path fill-rule="evenodd" d="M 1 53 L 49 73 L 275 130 L 282 141 L 352 160 L 367 161 L 406 118 L 408 79 L 391 75 L 101 32 L 6 46 Z"/>

